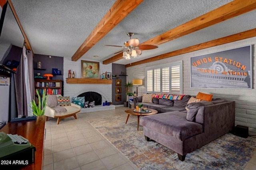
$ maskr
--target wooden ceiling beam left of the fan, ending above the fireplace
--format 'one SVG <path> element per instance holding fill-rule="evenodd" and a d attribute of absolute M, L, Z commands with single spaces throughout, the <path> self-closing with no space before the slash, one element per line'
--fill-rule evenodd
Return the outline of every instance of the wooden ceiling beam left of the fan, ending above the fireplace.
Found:
<path fill-rule="evenodd" d="M 99 42 L 110 32 L 120 21 L 122 21 L 132 10 L 143 0 L 117 0 L 107 14 L 102 18 L 91 34 L 72 56 L 72 61 L 77 61 L 90 48 Z"/>

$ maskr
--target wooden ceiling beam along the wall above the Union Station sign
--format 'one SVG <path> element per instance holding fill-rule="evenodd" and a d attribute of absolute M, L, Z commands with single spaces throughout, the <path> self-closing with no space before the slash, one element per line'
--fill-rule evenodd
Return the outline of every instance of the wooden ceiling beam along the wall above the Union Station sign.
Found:
<path fill-rule="evenodd" d="M 183 48 L 183 49 L 179 49 L 179 50 L 176 50 L 176 51 L 171 51 L 169 53 L 164 53 L 164 54 L 161 54 L 161 55 L 158 55 L 158 56 L 155 56 L 155 57 L 151 57 L 151 58 L 148 58 L 148 59 L 144 59 L 144 60 L 141 60 L 141 61 L 138 61 L 138 62 L 134 62 L 134 63 L 131 63 L 131 64 L 126 64 L 125 67 L 132 67 L 132 66 L 135 66 L 135 65 L 150 63 L 152 61 L 157 61 L 157 60 L 165 59 L 165 58 L 168 58 L 168 57 L 173 57 L 173 56 L 177 56 L 177 55 L 181 55 L 181 54 L 185 54 L 185 53 L 190 53 L 190 52 L 193 52 L 193 51 L 197 51 L 197 50 L 205 49 L 205 48 L 209 48 L 209 47 L 214 47 L 214 46 L 222 45 L 222 44 L 225 44 L 225 43 L 236 42 L 236 41 L 239 41 L 239 40 L 244 40 L 246 38 L 252 38 L 252 37 L 255 37 L 255 36 L 256 36 L 256 28 L 252 29 L 252 30 L 245 31 L 245 32 L 240 32 L 238 34 L 233 34 L 231 36 L 227 36 L 227 37 L 219 38 L 219 39 L 212 40 L 212 41 L 209 41 L 209 42 L 204 42 L 204 43 L 200 43 L 200 44 L 193 45 L 193 46 L 190 46 L 190 47 L 186 47 L 186 48 Z"/>

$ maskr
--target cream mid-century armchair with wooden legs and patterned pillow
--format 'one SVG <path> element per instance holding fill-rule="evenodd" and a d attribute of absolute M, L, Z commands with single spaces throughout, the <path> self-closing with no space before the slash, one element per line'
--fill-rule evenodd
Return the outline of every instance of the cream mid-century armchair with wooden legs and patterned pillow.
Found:
<path fill-rule="evenodd" d="M 57 96 L 61 95 L 48 95 L 48 100 L 45 108 L 46 121 L 49 117 L 58 118 L 57 125 L 60 123 L 61 119 L 66 117 L 74 116 L 75 119 L 76 113 L 81 111 L 81 107 L 74 103 L 71 103 L 71 106 L 59 106 Z"/>

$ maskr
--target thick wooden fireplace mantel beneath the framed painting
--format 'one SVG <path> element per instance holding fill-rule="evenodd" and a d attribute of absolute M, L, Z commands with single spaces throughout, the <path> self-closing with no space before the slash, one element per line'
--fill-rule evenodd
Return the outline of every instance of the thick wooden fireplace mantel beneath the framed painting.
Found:
<path fill-rule="evenodd" d="M 66 78 L 66 83 L 73 84 L 112 84 L 110 79 L 70 79 Z"/>

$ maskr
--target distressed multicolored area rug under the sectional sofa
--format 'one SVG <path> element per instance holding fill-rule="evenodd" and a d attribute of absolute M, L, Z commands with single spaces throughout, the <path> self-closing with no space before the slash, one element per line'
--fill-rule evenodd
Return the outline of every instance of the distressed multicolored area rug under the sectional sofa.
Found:
<path fill-rule="evenodd" d="M 137 117 L 127 115 L 88 122 L 122 154 L 142 170 L 241 170 L 256 151 L 256 139 L 227 133 L 186 155 L 182 162 L 172 150 L 154 141 L 146 141 L 143 127 L 137 131 Z"/>

